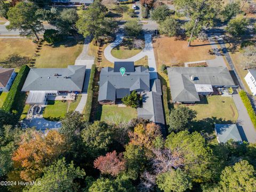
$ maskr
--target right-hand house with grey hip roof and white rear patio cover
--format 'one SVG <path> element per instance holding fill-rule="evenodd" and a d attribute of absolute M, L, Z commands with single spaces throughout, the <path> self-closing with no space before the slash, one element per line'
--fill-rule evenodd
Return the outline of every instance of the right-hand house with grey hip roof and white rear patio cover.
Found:
<path fill-rule="evenodd" d="M 194 103 L 217 88 L 238 87 L 226 67 L 167 68 L 173 102 Z"/>

